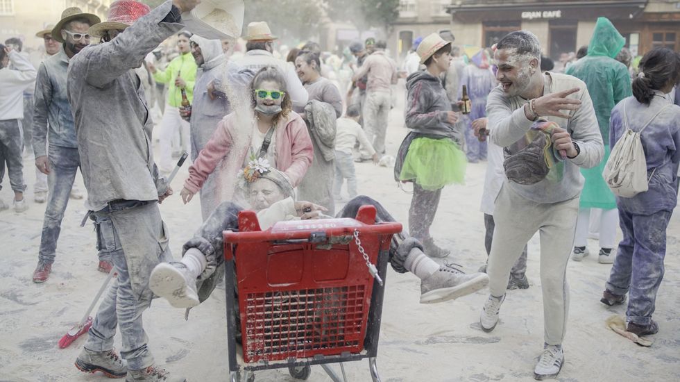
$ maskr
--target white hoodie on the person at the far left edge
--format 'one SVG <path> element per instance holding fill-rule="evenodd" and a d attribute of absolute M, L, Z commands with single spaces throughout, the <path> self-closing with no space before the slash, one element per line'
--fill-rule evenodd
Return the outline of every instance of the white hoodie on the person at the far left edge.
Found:
<path fill-rule="evenodd" d="M 24 90 L 37 77 L 27 58 L 16 51 L 10 51 L 9 58 L 15 70 L 0 69 L 0 121 L 24 118 Z"/>

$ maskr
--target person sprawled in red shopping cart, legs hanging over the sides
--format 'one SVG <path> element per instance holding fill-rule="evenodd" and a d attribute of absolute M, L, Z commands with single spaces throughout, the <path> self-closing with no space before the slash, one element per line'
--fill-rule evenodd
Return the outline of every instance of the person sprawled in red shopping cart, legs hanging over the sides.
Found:
<path fill-rule="evenodd" d="M 287 176 L 266 159 L 255 159 L 239 173 L 241 189 L 257 213 L 262 230 L 276 222 L 323 219 L 326 209 L 309 201 L 296 201 Z M 355 197 L 336 217 L 356 217 L 361 206 L 374 206 L 375 221 L 395 222 L 382 204 L 366 196 Z M 149 287 L 176 308 L 191 308 L 205 301 L 221 278 L 224 263 L 222 232 L 237 231 L 240 206 L 223 202 L 203 222 L 194 238 L 184 244 L 182 260 L 161 263 L 151 272 Z M 412 272 L 420 279 L 420 303 L 430 304 L 466 296 L 486 287 L 484 273 L 465 274 L 454 265 L 439 265 L 423 253 L 423 244 L 405 232 L 393 235 L 389 263 L 399 273 Z"/>

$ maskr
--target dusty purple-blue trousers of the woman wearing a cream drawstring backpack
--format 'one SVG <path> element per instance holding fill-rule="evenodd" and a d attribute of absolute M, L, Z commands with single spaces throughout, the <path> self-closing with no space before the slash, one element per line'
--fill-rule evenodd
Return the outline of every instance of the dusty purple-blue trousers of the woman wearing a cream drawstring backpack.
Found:
<path fill-rule="evenodd" d="M 663 279 L 666 229 L 671 211 L 635 215 L 619 208 L 623 240 L 611 267 L 606 288 L 614 294 L 629 292 L 628 322 L 649 325 L 656 304 L 656 292 Z"/>

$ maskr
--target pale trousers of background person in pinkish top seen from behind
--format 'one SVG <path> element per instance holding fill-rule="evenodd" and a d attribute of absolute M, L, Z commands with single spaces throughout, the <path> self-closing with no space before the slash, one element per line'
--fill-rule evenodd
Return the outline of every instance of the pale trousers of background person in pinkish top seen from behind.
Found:
<path fill-rule="evenodd" d="M 391 104 L 392 99 L 389 92 L 366 92 L 363 110 L 364 130 L 368 142 L 373 144 L 373 149 L 378 155 L 385 152 L 385 135 Z M 371 158 L 370 155 L 364 154 L 365 152 L 362 149 L 362 157 Z"/>

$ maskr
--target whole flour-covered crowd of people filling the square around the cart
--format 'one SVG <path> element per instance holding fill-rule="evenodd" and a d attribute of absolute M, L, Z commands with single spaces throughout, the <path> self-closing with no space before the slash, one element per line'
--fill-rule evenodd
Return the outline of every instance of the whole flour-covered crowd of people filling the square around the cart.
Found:
<path fill-rule="evenodd" d="M 205 301 L 223 274 L 221 233 L 239 228 L 245 208 L 257 212 L 262 229 L 355 217 L 364 205 L 375 206 L 376 222 L 394 221 L 379 201 L 360 195 L 355 174 L 355 163 L 390 165 L 390 154 L 395 181 L 411 183 L 413 196 L 408 230 L 394 236 L 389 259 L 396 272 L 418 277 L 421 303 L 488 285 L 480 324 L 493 331 L 506 290 L 529 288 L 527 242 L 539 233 L 545 334 L 536 379 L 556 376 L 563 365 L 566 268 L 570 258 L 590 254 L 591 217 L 598 261 L 613 263 L 602 303 L 624 304 L 628 294 L 627 331 L 659 330 L 652 314 L 678 194 L 679 53 L 655 48 L 631 67 L 624 38 L 600 17 L 588 47 L 565 53 L 558 70 L 529 31 L 472 54 L 454 46 L 450 33 L 432 33 L 416 39 L 398 65 L 373 38 L 350 44 L 343 59 L 311 41 L 281 55 L 269 25 L 253 22 L 244 53 L 232 54 L 232 42 L 185 30 L 181 15 L 197 3 L 169 0 L 151 10 L 118 0 L 105 22 L 67 8 L 36 33 L 46 52 L 37 69 L 21 40 L 0 44 L 0 182 L 6 168 L 12 207 L 26 211 L 23 158 L 34 155 L 35 203 L 46 202 L 33 281 L 49 280 L 69 199 L 84 196 L 74 188 L 78 169 L 98 268 L 117 272 L 78 369 L 126 381 L 185 381 L 158 367 L 147 349 L 142 315 L 151 300 L 164 297 L 178 308 Z M 91 44 L 93 37 L 99 42 Z M 339 67 L 351 71 L 349 83 L 338 81 Z M 386 131 L 400 78 L 409 133 L 390 153 Z M 603 172 L 621 160 L 615 149 L 631 134 L 643 147 L 647 188 L 622 197 Z M 181 151 L 190 151 L 192 165 L 180 197 L 187 204 L 200 195 L 203 224 L 176 261 L 173 227 L 158 204 L 173 195 L 167 176 Z M 481 212 L 488 258 L 465 274 L 433 260 L 452 254 L 430 228 L 443 189 L 462 184 L 467 163 L 479 161 L 487 162 Z M 0 200 L 0 210 L 9 207 Z M 120 355 L 112 346 L 117 330 Z"/>

